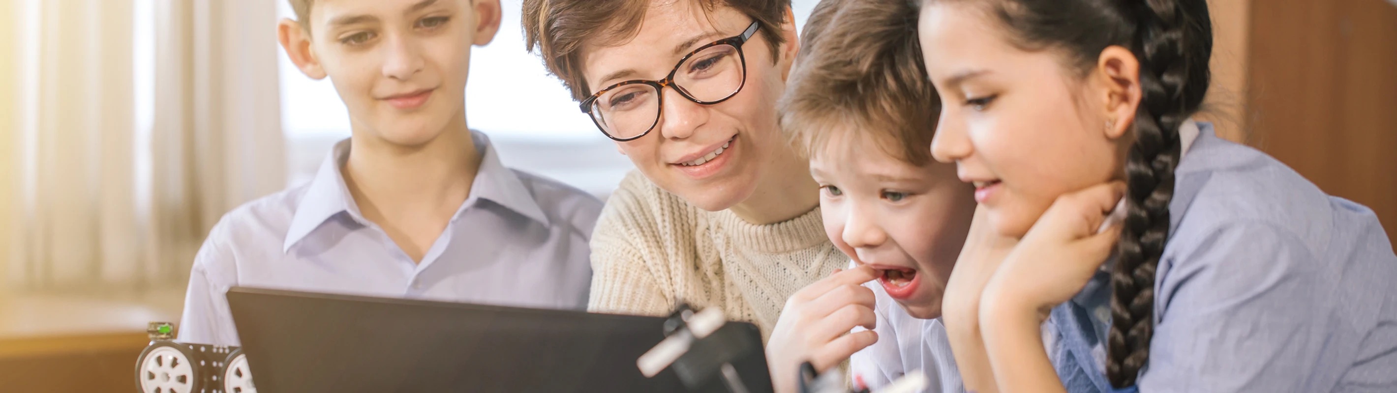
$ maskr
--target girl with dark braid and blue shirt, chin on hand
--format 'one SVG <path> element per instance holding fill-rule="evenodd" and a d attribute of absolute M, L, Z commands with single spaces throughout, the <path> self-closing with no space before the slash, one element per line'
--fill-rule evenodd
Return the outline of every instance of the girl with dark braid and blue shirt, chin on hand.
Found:
<path fill-rule="evenodd" d="M 968 390 L 1397 392 L 1372 210 L 1190 118 L 1206 0 L 925 0 L 918 35 L 979 202 L 943 300 Z"/>

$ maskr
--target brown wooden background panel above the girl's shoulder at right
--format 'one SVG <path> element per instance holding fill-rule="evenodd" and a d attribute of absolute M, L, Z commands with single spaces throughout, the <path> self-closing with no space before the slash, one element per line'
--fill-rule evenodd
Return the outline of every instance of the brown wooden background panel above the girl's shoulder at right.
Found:
<path fill-rule="evenodd" d="M 1397 242 L 1397 6 L 1252 4 L 1250 144 L 1372 208 Z"/>

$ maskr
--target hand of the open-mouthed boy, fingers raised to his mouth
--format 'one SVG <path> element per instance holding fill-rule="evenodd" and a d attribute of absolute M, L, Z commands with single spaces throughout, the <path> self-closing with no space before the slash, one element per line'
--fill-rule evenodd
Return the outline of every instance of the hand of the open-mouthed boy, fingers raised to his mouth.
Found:
<path fill-rule="evenodd" d="M 777 392 L 795 392 L 802 362 L 824 372 L 854 353 L 877 341 L 877 333 L 849 333 L 854 326 L 873 329 L 873 291 L 861 286 L 877 277 L 873 268 L 858 266 L 800 288 L 781 311 L 767 343 L 767 364 Z"/>

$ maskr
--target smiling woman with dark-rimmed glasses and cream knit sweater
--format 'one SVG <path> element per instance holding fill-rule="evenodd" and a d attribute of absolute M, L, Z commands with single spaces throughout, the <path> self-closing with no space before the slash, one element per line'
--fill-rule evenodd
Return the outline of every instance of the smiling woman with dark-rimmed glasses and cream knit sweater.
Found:
<path fill-rule="evenodd" d="M 789 0 L 525 0 L 524 31 L 637 171 L 592 233 L 597 312 L 721 308 L 763 336 L 848 263 L 777 124 L 796 54 Z"/>

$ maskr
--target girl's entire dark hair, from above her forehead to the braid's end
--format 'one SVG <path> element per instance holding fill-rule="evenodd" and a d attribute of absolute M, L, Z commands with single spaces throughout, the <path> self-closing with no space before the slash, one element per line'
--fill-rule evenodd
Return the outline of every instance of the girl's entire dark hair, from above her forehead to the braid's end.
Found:
<path fill-rule="evenodd" d="M 1062 49 L 1083 75 L 1108 46 L 1140 61 L 1141 100 L 1125 177 L 1126 220 L 1111 272 L 1106 375 L 1134 385 L 1150 358 L 1154 275 L 1169 238 L 1169 201 L 1179 163 L 1179 125 L 1208 89 L 1213 22 L 1206 0 L 993 0 L 992 8 L 1028 50 Z"/>

